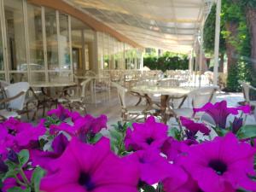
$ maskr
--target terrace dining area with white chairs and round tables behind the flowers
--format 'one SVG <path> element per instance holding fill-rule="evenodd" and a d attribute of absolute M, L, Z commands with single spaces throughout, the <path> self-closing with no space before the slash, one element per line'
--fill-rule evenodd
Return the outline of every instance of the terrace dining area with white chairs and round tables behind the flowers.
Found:
<path fill-rule="evenodd" d="M 47 111 L 62 105 L 81 114 L 105 113 L 110 121 L 143 122 L 153 115 L 165 124 L 173 118 L 178 125 L 182 116 L 201 119 L 195 117 L 193 108 L 221 101 L 218 96 L 225 95 L 224 92 L 221 94 L 218 86 L 211 84 L 207 76 L 201 78 L 204 79 L 201 86 L 195 84 L 198 78 L 188 70 L 169 70 L 166 73 L 157 70 L 106 70 L 99 74 L 92 71 L 84 75 L 73 74 L 72 78 L 61 77 L 53 83 L 8 84 L 1 81 L 4 108 L 0 114 L 2 120 L 14 117 L 37 122 Z M 231 105 L 239 106 L 245 102 L 254 106 L 249 91 L 255 88 L 245 82 L 241 82 L 241 87 L 244 97 L 238 96 Z M 226 99 L 229 101 L 229 95 Z M 252 112 L 251 124 L 254 124 L 253 115 Z"/>

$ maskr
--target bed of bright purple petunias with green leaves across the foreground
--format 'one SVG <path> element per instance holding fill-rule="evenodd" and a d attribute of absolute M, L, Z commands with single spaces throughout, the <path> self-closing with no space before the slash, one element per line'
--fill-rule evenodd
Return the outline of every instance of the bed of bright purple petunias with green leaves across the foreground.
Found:
<path fill-rule="evenodd" d="M 239 111 L 250 108 L 207 103 L 194 112 L 209 114 L 212 126 L 181 117 L 184 129 L 168 129 L 149 117 L 113 125 L 108 138 L 105 115 L 61 106 L 35 126 L 8 119 L 0 125 L 0 191 L 256 191 L 255 127 L 241 116 L 227 126 Z"/>

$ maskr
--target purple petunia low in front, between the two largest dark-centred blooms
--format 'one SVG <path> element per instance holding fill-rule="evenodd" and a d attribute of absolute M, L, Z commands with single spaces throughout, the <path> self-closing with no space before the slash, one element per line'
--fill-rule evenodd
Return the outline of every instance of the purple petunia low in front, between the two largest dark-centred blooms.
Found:
<path fill-rule="evenodd" d="M 137 163 L 140 171 L 140 180 L 150 185 L 159 183 L 167 177 L 186 179 L 186 174 L 179 166 L 174 166 L 160 156 L 160 151 L 155 148 L 139 150 L 126 156 L 131 163 Z M 185 178 L 184 178 L 185 177 Z"/>

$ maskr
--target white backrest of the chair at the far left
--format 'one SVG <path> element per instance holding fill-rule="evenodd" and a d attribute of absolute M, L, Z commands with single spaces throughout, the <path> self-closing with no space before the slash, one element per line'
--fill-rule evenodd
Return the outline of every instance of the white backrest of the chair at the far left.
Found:
<path fill-rule="evenodd" d="M 18 98 L 9 102 L 9 108 L 21 110 L 24 106 L 26 91 L 29 89 L 29 84 L 27 82 L 19 82 L 15 84 L 9 84 L 4 88 L 7 97 L 13 97 L 18 95 L 21 91 L 24 91 L 25 94 L 19 96 Z"/>

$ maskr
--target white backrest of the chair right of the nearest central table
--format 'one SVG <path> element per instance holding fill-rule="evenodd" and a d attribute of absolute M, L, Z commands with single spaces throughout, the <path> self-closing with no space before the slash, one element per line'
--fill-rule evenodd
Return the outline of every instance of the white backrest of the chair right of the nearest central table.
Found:
<path fill-rule="evenodd" d="M 216 90 L 218 90 L 218 86 L 202 87 L 192 91 L 189 94 L 192 97 L 192 107 L 201 108 L 207 102 L 212 102 Z"/>

